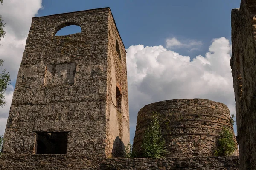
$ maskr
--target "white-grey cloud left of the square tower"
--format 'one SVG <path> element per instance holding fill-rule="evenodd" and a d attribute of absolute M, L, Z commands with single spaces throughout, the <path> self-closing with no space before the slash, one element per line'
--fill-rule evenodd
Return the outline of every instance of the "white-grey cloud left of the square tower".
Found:
<path fill-rule="evenodd" d="M 3 68 L 10 73 L 12 84 L 17 78 L 32 17 L 41 8 L 41 3 L 42 0 L 4 0 L 0 5 L 6 31 L 6 36 L 1 39 L 0 59 L 4 60 Z M 14 87 L 9 85 L 5 94 L 7 104 L 0 108 L 0 135 L 6 127 L 13 91 Z"/>

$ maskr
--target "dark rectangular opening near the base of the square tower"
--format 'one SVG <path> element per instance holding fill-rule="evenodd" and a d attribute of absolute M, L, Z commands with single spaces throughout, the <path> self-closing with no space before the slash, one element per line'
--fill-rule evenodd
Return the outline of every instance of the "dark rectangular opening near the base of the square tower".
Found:
<path fill-rule="evenodd" d="M 36 154 L 66 154 L 67 132 L 38 132 Z"/>

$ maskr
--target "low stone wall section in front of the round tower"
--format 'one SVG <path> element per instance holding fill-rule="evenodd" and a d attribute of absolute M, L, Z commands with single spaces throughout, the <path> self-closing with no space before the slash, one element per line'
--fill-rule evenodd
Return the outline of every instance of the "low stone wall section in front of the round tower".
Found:
<path fill-rule="evenodd" d="M 239 156 L 111 158 L 101 170 L 239 170 Z"/>

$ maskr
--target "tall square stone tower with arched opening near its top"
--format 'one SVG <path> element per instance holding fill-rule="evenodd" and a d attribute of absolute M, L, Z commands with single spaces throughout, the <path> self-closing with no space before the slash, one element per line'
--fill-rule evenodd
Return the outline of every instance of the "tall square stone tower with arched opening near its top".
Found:
<path fill-rule="evenodd" d="M 81 33 L 55 36 L 69 25 Z M 70 164 L 69 156 L 119 156 L 130 140 L 127 91 L 126 51 L 110 8 L 33 18 L 4 156 L 54 154 Z"/>

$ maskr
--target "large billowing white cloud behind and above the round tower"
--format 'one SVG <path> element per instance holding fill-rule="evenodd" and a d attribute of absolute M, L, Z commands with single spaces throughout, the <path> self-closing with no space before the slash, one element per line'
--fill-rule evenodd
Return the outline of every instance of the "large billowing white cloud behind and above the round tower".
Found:
<path fill-rule="evenodd" d="M 163 46 L 130 46 L 127 74 L 131 130 L 135 130 L 140 108 L 162 100 L 210 99 L 226 104 L 235 114 L 230 52 L 230 42 L 224 37 L 214 39 L 204 57 L 194 59 Z"/>

